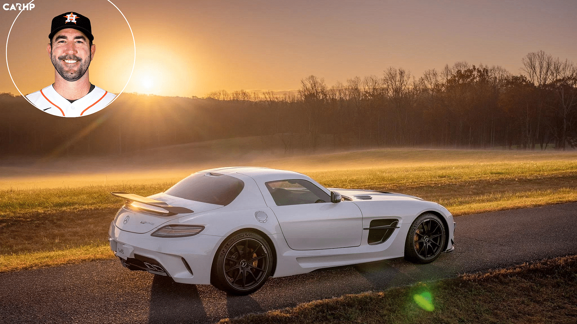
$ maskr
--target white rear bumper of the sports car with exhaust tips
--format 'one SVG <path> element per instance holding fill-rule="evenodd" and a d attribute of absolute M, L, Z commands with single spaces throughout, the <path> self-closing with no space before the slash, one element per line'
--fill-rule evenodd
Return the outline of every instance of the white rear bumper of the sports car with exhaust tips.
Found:
<path fill-rule="evenodd" d="M 114 224 L 108 234 L 111 250 L 126 268 L 169 276 L 184 284 L 211 283 L 214 251 L 223 240 L 221 236 L 201 233 L 185 238 L 156 238 L 149 233 L 122 231 Z M 122 246 L 123 254 L 117 252 L 117 246 Z"/>

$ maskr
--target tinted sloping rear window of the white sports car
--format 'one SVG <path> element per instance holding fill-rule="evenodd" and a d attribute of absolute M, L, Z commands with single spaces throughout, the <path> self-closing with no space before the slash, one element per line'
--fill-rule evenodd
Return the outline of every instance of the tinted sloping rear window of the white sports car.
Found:
<path fill-rule="evenodd" d="M 230 175 L 211 172 L 190 175 L 164 193 L 208 204 L 230 204 L 241 193 L 245 183 Z"/>

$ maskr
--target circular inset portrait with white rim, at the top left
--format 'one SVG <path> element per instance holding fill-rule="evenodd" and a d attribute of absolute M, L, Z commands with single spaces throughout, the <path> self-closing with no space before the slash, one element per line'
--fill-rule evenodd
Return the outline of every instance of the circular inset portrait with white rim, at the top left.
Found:
<path fill-rule="evenodd" d="M 134 37 L 113 2 L 34 1 L 18 14 L 6 43 L 10 77 L 39 110 L 62 117 L 93 114 L 130 80 Z"/>

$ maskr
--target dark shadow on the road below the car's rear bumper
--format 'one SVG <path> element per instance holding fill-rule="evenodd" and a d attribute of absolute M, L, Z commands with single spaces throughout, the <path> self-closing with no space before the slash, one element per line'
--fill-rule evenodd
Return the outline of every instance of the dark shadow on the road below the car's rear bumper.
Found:
<path fill-rule="evenodd" d="M 180 284 L 170 277 L 154 276 L 148 322 L 207 323 L 210 320 L 196 285 Z"/>

